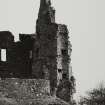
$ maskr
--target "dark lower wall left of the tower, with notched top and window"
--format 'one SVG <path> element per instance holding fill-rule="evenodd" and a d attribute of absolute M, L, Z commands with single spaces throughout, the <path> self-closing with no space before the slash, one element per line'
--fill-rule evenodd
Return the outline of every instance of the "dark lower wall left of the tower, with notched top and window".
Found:
<path fill-rule="evenodd" d="M 14 42 L 11 32 L 0 32 L 0 49 L 6 49 L 6 61 L 0 61 L 1 77 L 26 78 L 31 76 L 33 36 L 35 35 L 20 34 L 20 41 Z"/>

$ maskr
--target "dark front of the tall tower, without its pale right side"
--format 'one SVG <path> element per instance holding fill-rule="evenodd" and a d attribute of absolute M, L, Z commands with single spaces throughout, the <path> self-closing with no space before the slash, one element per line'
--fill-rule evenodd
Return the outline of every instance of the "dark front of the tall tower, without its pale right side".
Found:
<path fill-rule="evenodd" d="M 51 90 L 57 86 L 57 30 L 55 10 L 49 0 L 40 1 L 33 47 L 33 75 L 50 80 Z"/>

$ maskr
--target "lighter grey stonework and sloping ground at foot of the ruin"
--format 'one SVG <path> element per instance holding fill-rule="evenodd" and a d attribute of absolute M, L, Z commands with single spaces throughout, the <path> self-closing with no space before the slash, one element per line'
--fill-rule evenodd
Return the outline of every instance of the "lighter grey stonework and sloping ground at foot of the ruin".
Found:
<path fill-rule="evenodd" d="M 49 81 L 6 78 L 0 80 L 0 105 L 69 105 L 51 97 Z"/>

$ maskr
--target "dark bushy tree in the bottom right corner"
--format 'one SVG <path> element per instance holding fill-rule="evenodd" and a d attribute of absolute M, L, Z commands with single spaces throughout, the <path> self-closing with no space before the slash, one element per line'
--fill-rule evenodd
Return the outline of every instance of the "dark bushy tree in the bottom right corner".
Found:
<path fill-rule="evenodd" d="M 103 84 L 89 91 L 87 95 L 87 97 L 81 97 L 80 105 L 105 105 L 105 86 Z"/>

